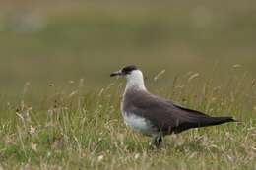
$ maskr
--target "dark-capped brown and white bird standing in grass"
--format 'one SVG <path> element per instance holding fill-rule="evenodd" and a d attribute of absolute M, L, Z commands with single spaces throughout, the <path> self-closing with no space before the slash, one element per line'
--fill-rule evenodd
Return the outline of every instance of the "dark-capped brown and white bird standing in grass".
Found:
<path fill-rule="evenodd" d="M 145 86 L 143 73 L 136 65 L 125 66 L 110 74 L 110 77 L 115 76 L 126 77 L 121 100 L 121 113 L 126 126 L 153 137 L 156 147 L 167 135 L 236 122 L 232 117 L 212 117 L 150 93 Z"/>

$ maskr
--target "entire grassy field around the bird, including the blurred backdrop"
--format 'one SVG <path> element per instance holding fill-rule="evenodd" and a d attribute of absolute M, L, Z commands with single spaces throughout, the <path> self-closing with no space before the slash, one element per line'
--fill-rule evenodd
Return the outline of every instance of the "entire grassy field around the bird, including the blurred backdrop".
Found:
<path fill-rule="evenodd" d="M 0 7 L 0 170 L 256 169 L 254 1 L 28 3 Z M 131 63 L 153 93 L 239 122 L 153 148 L 109 77 Z"/>

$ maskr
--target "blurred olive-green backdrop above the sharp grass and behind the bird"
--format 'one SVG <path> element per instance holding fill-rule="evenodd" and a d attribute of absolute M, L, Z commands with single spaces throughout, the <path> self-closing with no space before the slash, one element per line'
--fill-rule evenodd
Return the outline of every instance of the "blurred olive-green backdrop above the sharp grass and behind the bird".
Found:
<path fill-rule="evenodd" d="M 190 71 L 217 83 L 256 73 L 256 1 L 1 1 L 0 90 L 32 93 L 84 79 L 99 90 L 126 64 L 170 86 Z M 235 65 L 235 66 L 234 66 Z M 234 66 L 234 67 L 233 67 Z M 240 66 L 242 66 L 240 68 Z"/>

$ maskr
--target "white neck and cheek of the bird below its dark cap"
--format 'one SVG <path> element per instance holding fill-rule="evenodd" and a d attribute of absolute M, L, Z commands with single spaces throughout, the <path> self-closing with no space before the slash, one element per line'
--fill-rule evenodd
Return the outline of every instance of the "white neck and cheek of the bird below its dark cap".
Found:
<path fill-rule="evenodd" d="M 144 84 L 143 74 L 141 71 L 133 71 L 130 75 L 127 76 L 125 91 L 129 89 L 147 90 Z"/>

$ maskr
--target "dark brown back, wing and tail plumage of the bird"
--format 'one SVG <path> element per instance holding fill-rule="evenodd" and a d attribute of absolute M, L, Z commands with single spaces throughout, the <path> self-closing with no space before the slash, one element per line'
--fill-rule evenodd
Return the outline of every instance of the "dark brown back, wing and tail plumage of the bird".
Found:
<path fill-rule="evenodd" d="M 140 115 L 150 120 L 163 135 L 234 121 L 231 117 L 211 117 L 174 104 L 170 100 L 160 98 L 147 91 L 136 89 L 126 91 L 123 109 L 127 113 Z"/>

